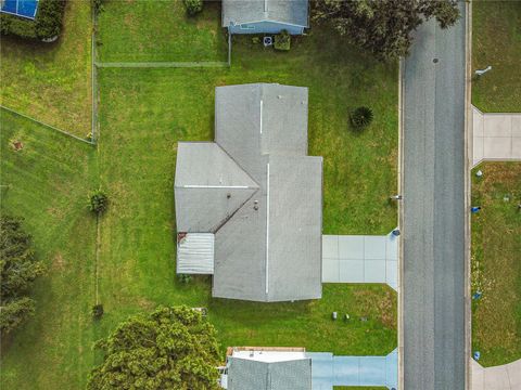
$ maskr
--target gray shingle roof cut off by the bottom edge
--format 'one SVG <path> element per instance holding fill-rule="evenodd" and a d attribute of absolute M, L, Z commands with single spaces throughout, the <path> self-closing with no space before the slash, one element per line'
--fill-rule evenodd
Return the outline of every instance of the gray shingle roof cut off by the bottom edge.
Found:
<path fill-rule="evenodd" d="M 265 363 L 228 358 L 228 390 L 310 390 L 312 360 Z"/>

